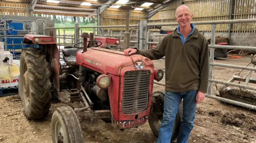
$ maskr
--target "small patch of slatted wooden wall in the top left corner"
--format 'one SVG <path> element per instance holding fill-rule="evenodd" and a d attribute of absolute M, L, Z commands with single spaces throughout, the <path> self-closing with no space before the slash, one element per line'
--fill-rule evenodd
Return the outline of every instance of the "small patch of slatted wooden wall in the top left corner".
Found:
<path fill-rule="evenodd" d="M 29 8 L 29 3 L 0 1 L 0 6 Z M 29 16 L 30 12 L 28 9 L 13 9 L 13 8 L 0 7 L 0 14 L 1 15 Z"/>

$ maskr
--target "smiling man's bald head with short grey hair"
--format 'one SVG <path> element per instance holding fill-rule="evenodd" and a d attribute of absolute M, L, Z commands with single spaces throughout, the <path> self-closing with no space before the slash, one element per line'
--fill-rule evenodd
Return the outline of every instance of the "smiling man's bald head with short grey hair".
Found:
<path fill-rule="evenodd" d="M 190 26 L 193 14 L 189 11 L 187 6 L 181 6 L 177 9 L 175 19 L 180 27 Z"/>

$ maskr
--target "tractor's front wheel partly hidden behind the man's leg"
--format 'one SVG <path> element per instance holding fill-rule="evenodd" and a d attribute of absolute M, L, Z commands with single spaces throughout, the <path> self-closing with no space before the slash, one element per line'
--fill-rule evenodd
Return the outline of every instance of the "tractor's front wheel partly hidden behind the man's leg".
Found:
<path fill-rule="evenodd" d="M 148 123 L 156 137 L 159 135 L 159 128 L 163 119 L 164 112 L 164 93 L 156 91 L 152 95 L 152 105 L 148 116 Z M 174 121 L 171 142 L 178 138 L 180 126 L 182 122 L 182 105 L 179 106 Z"/>

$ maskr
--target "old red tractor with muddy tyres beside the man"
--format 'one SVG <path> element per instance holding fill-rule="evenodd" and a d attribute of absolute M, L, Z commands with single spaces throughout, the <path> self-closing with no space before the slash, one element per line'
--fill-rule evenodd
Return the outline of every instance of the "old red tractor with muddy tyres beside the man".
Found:
<path fill-rule="evenodd" d="M 119 45 L 119 39 L 89 37 L 88 33 L 81 37 L 82 47 L 76 44 L 59 51 L 53 37 L 25 36 L 24 43 L 37 47 L 22 49 L 20 59 L 19 95 L 27 119 L 46 117 L 55 96 L 83 107 L 62 106 L 54 111 L 54 143 L 84 142 L 79 122 L 86 119 L 102 119 L 122 130 L 148 120 L 158 136 L 164 94 L 153 93 L 153 85 L 163 78 L 163 71 L 141 55 L 124 56 L 105 48 L 106 44 Z M 181 115 L 179 110 L 172 140 L 177 138 Z"/>

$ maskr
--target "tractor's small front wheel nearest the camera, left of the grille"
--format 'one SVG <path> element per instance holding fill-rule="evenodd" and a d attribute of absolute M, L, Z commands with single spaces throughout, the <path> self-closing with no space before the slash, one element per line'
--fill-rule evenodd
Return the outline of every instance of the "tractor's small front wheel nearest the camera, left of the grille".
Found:
<path fill-rule="evenodd" d="M 69 107 L 59 107 L 52 115 L 53 143 L 83 143 L 83 132 L 75 111 Z"/>

